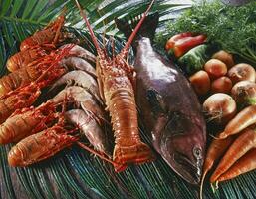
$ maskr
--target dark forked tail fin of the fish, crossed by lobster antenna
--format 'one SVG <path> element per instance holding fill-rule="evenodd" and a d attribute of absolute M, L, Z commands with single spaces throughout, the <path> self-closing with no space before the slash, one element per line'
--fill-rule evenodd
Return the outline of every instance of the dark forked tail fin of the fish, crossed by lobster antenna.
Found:
<path fill-rule="evenodd" d="M 122 33 L 124 33 L 124 35 L 128 39 L 128 37 L 132 33 L 134 27 L 139 22 L 140 18 L 141 18 L 141 15 L 137 15 L 137 16 L 131 17 L 129 19 L 126 19 L 126 18 L 118 19 L 118 18 L 116 18 L 115 23 L 117 25 L 117 28 Z M 150 14 L 150 15 L 145 17 L 145 20 L 144 20 L 143 24 L 141 25 L 141 27 L 138 30 L 133 42 L 131 43 L 133 48 L 136 47 L 136 44 L 137 44 L 136 41 L 141 37 L 147 37 L 151 41 L 153 40 L 155 30 L 158 26 L 158 21 L 159 21 L 159 13 L 158 12 L 155 12 L 155 13 Z"/>

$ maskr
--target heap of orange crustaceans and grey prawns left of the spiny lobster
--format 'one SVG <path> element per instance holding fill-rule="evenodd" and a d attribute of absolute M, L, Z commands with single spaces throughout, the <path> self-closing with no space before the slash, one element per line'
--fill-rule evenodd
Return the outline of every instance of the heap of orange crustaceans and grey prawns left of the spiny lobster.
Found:
<path fill-rule="evenodd" d="M 61 46 L 63 24 L 60 16 L 25 39 L 0 79 L 0 144 L 16 143 L 8 154 L 11 166 L 46 159 L 82 134 L 100 154 L 110 154 L 96 56 L 75 44 Z"/>

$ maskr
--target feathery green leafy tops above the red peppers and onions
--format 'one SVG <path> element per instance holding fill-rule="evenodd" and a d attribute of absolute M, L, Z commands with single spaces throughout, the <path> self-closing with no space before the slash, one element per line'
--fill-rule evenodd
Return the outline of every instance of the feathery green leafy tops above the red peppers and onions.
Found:
<path fill-rule="evenodd" d="M 156 41 L 165 43 L 172 35 L 189 31 L 206 34 L 221 49 L 256 64 L 256 1 L 240 7 L 219 0 L 194 5 L 175 22 L 169 22 Z"/>

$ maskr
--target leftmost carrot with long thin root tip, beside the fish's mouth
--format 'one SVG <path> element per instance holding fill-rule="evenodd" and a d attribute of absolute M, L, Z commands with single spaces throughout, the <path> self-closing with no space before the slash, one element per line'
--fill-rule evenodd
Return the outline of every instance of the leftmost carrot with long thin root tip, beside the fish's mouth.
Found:
<path fill-rule="evenodd" d="M 232 144 L 233 139 L 233 136 L 229 136 L 226 139 L 213 139 L 211 142 L 203 164 L 203 173 L 200 185 L 200 198 L 202 198 L 202 188 L 206 174 L 212 168 L 214 162 L 217 161 Z"/>

